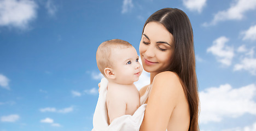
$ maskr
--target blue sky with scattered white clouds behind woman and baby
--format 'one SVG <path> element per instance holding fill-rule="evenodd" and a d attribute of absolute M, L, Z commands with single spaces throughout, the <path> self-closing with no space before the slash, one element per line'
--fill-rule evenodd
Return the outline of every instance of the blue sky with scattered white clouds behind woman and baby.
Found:
<path fill-rule="evenodd" d="M 144 22 L 165 7 L 193 26 L 200 129 L 255 131 L 255 0 L 0 0 L 0 131 L 91 130 L 98 45 L 138 50 Z M 144 72 L 136 85 L 148 81 Z"/>

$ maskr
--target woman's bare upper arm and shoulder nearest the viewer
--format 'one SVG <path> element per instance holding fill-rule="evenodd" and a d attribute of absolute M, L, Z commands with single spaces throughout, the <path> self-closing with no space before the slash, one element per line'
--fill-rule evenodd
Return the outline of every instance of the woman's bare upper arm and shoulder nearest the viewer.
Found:
<path fill-rule="evenodd" d="M 183 88 L 176 73 L 162 72 L 156 75 L 139 130 L 165 131 L 181 91 Z"/>

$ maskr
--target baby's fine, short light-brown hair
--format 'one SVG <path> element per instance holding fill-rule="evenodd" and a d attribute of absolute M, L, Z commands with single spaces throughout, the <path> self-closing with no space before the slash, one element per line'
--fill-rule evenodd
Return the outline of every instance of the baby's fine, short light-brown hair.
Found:
<path fill-rule="evenodd" d="M 96 52 L 96 61 L 100 72 L 105 76 L 104 69 L 112 68 L 113 49 L 123 49 L 131 46 L 132 45 L 129 42 L 120 39 L 107 40 L 101 43 L 100 46 L 98 46 L 98 50 Z"/>

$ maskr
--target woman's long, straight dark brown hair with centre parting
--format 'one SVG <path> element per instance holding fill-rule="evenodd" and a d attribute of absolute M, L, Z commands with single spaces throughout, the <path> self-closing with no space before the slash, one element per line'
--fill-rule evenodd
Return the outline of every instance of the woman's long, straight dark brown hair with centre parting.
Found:
<path fill-rule="evenodd" d="M 173 35 L 174 53 L 170 65 L 171 72 L 178 74 L 183 85 L 190 109 L 189 131 L 199 130 L 199 95 L 195 72 L 193 29 L 188 16 L 180 9 L 164 8 L 149 16 L 149 22 L 159 22 Z"/>

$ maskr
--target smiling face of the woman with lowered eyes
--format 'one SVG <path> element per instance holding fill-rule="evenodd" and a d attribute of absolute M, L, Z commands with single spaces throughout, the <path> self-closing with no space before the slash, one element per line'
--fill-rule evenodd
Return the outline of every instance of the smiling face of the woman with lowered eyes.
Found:
<path fill-rule="evenodd" d="M 174 51 L 173 35 L 159 22 L 149 22 L 144 28 L 139 53 L 146 72 L 167 70 Z"/>

